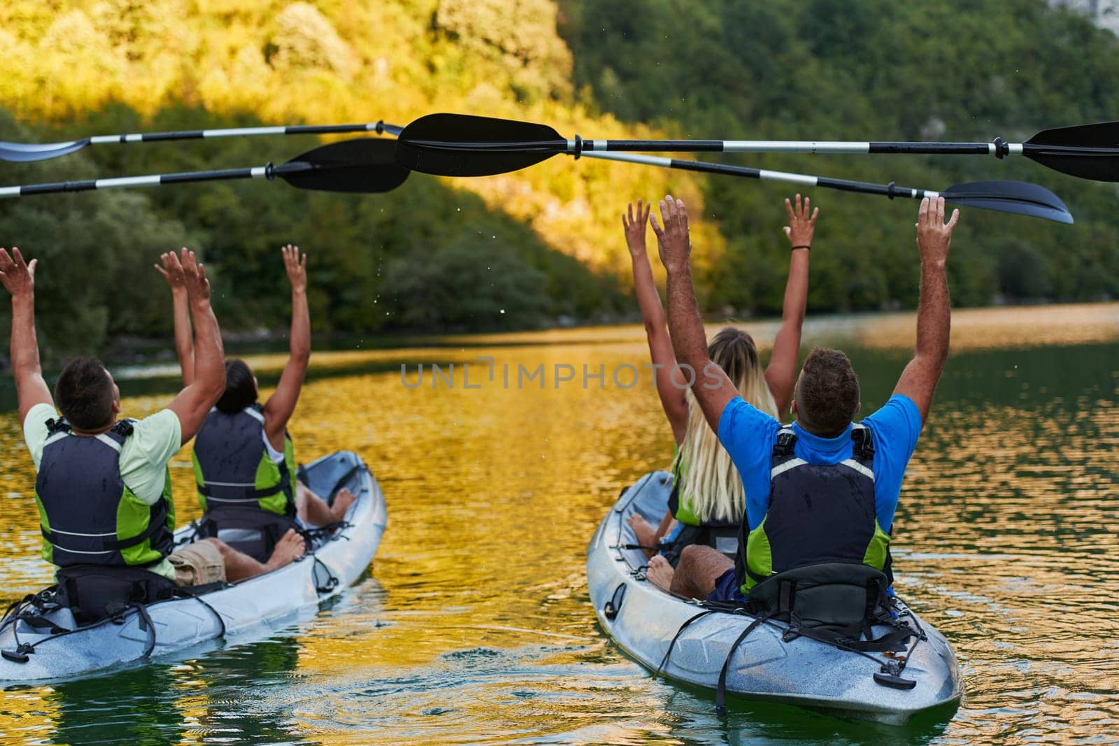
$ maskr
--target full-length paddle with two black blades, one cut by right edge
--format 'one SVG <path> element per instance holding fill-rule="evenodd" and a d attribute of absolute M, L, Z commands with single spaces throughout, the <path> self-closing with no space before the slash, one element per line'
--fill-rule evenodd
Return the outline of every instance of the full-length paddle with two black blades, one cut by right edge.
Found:
<path fill-rule="evenodd" d="M 397 141 L 402 166 L 435 176 L 493 176 L 539 163 L 556 153 L 594 151 L 1023 154 L 1062 173 L 1119 181 L 1119 122 L 1044 130 L 1024 143 L 814 142 L 770 140 L 568 140 L 545 124 L 468 114 L 429 114 Z M 436 154 L 442 154 L 438 157 Z"/>

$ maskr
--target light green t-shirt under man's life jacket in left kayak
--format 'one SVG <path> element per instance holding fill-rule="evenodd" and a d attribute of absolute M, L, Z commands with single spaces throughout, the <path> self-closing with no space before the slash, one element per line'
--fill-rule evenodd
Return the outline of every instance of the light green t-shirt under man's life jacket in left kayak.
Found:
<path fill-rule="evenodd" d="M 43 460 L 43 446 L 47 442 L 47 421 L 59 416 L 49 404 L 37 404 L 23 421 L 23 441 L 31 453 L 35 470 Z M 179 416 L 170 409 L 133 423 L 132 435 L 121 447 L 121 479 L 132 490 L 132 494 L 153 506 L 163 498 L 163 480 L 169 462 L 182 445 L 182 425 Z M 175 568 L 166 559 L 149 568 L 152 573 L 175 579 Z"/>

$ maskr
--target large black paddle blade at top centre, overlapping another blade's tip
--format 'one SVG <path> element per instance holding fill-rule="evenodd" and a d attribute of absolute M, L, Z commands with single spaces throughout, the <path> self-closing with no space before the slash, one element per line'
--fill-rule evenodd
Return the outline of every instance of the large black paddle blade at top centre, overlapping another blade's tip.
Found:
<path fill-rule="evenodd" d="M 545 124 L 470 114 L 429 114 L 404 128 L 396 160 L 434 176 L 493 176 L 546 161 L 567 141 Z"/>

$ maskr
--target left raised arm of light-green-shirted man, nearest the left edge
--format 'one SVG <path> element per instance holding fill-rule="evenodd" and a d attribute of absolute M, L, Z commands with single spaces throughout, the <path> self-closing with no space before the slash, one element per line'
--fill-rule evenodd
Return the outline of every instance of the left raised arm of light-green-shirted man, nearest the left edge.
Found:
<path fill-rule="evenodd" d="M 18 248 L 12 247 L 11 255 L 0 248 L 0 282 L 11 293 L 11 371 L 16 377 L 20 426 L 36 404 L 55 404 L 43 379 L 39 342 L 35 338 L 35 266 L 38 262 L 31 259 L 28 264 Z"/>

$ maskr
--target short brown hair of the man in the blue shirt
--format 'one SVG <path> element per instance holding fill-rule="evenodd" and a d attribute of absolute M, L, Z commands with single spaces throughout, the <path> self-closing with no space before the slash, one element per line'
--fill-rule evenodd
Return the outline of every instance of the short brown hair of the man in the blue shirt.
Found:
<path fill-rule="evenodd" d="M 801 427 L 820 437 L 836 437 L 858 412 L 858 377 L 840 350 L 817 347 L 805 358 L 793 396 Z"/>

